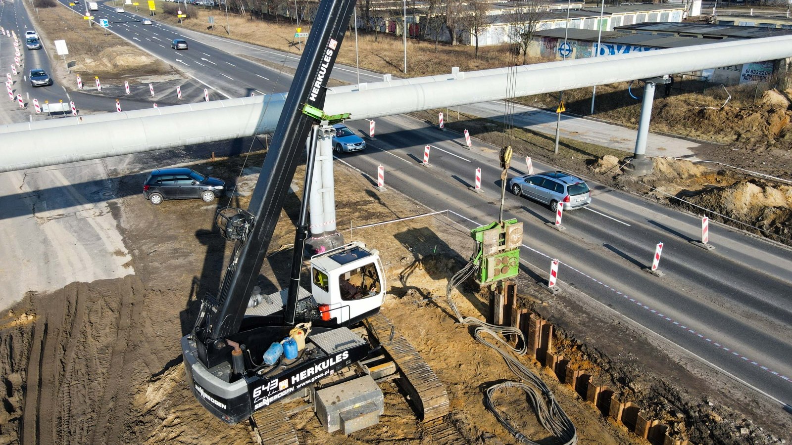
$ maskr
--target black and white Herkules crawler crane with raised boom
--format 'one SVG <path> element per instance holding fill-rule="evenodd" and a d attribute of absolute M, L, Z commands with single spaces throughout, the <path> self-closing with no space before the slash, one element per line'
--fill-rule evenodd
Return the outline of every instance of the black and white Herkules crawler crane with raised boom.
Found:
<path fill-rule="evenodd" d="M 249 207 L 226 207 L 215 218 L 223 236 L 234 241 L 234 250 L 218 294 L 202 300 L 195 327 L 182 337 L 181 348 L 192 393 L 210 413 L 230 424 L 250 420 L 256 428 L 253 413 L 257 410 L 292 394 L 303 394 L 315 382 L 359 363 L 371 356 L 372 350 L 382 349 L 396 364 L 400 380 L 424 420 L 448 412 L 444 386 L 425 363 L 415 363 L 422 359 L 406 341 L 394 342 L 394 326 L 378 314 L 386 282 L 375 249 L 352 242 L 314 255 L 310 257 L 310 292 L 300 286 L 319 125 L 349 117 L 327 116 L 322 106 L 354 4 L 354 0 L 322 0 L 319 4 Z M 258 295 L 256 281 L 307 140 L 306 182 L 289 286 L 272 295 Z M 349 329 L 364 320 L 371 341 L 390 331 L 390 341 L 384 342 L 387 345 L 375 348 Z M 407 360 L 409 368 L 404 366 Z M 365 372 L 362 374 L 361 378 L 366 378 Z M 370 382 L 359 386 L 373 385 L 375 390 L 369 394 L 379 391 L 371 377 L 367 378 Z M 370 403 L 363 405 L 381 413 L 381 391 L 379 408 L 376 397 L 371 395 Z M 356 406 L 360 407 L 357 401 Z M 345 419 L 352 425 L 350 419 L 374 417 L 370 414 L 357 409 Z M 379 419 L 379 414 L 375 417 Z M 369 420 L 357 421 L 345 432 L 367 424 Z"/>

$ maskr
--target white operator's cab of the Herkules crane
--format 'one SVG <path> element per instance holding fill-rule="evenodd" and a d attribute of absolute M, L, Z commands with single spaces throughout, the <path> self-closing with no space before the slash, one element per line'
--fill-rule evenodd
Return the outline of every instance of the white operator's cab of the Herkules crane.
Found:
<path fill-rule="evenodd" d="M 385 274 L 379 251 L 352 242 L 310 258 L 311 294 L 323 321 L 353 324 L 379 311 Z"/>

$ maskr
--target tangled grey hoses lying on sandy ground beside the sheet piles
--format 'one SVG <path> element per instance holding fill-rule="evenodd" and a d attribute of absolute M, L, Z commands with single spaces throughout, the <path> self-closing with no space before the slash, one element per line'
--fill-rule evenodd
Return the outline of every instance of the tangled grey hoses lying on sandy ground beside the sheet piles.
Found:
<path fill-rule="evenodd" d="M 526 384 L 524 382 L 507 381 L 489 386 L 484 394 L 484 405 L 493 413 L 498 422 L 500 422 L 508 432 L 511 432 L 520 443 L 525 443 L 526 445 L 539 445 L 539 443 L 528 439 L 519 432 L 517 428 L 508 421 L 507 416 L 505 416 L 501 410 L 497 409 L 493 401 L 493 394 L 495 394 L 497 390 L 508 387 L 520 388 L 527 394 L 528 401 L 534 409 L 539 423 L 541 423 L 548 432 L 554 435 L 559 443 L 564 445 L 576 445 L 577 430 L 575 429 L 575 425 L 572 424 L 572 420 L 569 419 L 569 416 L 567 416 L 561 406 L 558 405 L 558 401 L 555 400 L 550 388 L 545 385 L 542 378 L 539 378 L 538 375 L 535 375 L 531 370 L 525 367 L 523 363 L 520 363 L 512 354 L 508 353 L 508 351 L 511 351 L 518 356 L 524 356 L 527 352 L 525 337 L 520 329 L 513 328 L 512 326 L 491 325 L 478 318 L 463 317 L 462 314 L 459 313 L 459 309 L 457 309 L 454 301 L 451 299 L 451 293 L 454 289 L 470 278 L 477 268 L 478 266 L 471 260 L 464 268 L 456 272 L 454 276 L 451 277 L 451 280 L 448 280 L 446 286 L 448 306 L 451 307 L 459 324 L 474 325 L 474 338 L 478 340 L 479 343 L 493 348 L 503 357 L 508 369 L 517 375 L 517 377 L 523 379 L 524 382 L 527 382 Z M 485 338 L 485 334 L 489 335 L 491 339 Z M 516 344 L 521 344 L 522 348 L 518 349 L 508 344 L 504 336 L 510 334 L 520 337 L 520 340 L 518 340 Z"/>

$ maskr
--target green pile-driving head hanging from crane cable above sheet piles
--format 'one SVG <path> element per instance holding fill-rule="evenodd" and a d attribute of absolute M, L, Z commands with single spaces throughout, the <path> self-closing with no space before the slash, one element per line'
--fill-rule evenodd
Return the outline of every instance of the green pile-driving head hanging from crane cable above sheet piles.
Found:
<path fill-rule="evenodd" d="M 520 273 L 520 246 L 523 223 L 516 219 L 492 222 L 470 230 L 476 241 L 474 261 L 478 263 L 479 284 L 495 283 Z"/>

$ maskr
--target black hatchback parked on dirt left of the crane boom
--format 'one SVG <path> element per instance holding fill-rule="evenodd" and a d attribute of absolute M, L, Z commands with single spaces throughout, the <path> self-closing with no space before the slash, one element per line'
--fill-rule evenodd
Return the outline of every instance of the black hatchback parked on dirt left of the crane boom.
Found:
<path fill-rule="evenodd" d="M 162 200 L 215 200 L 226 183 L 216 177 L 204 176 L 192 169 L 158 169 L 143 183 L 143 197 L 152 204 Z"/>

